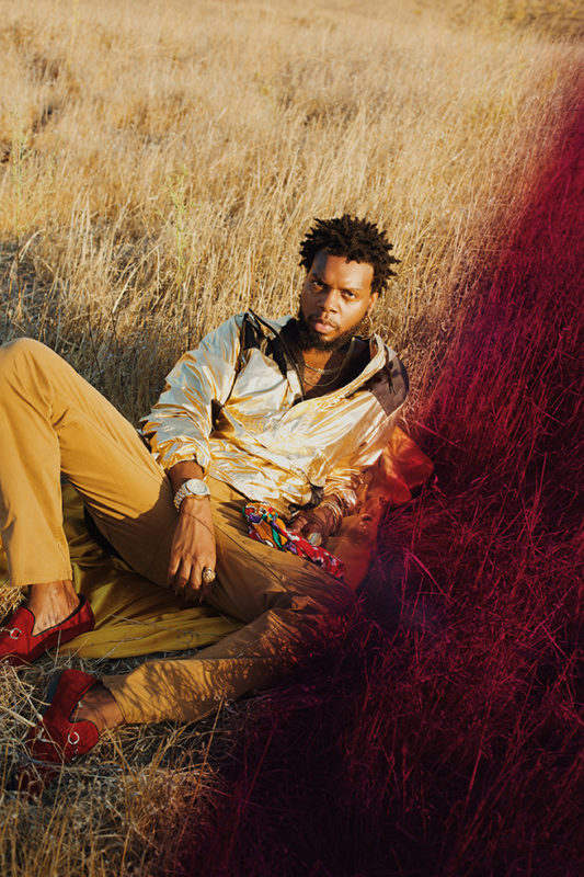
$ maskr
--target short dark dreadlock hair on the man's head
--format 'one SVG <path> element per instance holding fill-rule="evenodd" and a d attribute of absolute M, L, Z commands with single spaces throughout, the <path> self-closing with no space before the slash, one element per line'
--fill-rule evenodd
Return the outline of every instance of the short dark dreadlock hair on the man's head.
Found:
<path fill-rule="evenodd" d="M 321 250 L 329 255 L 344 255 L 347 262 L 365 262 L 373 266 L 371 292 L 382 293 L 389 277 L 396 276 L 391 265 L 400 260 L 391 254 L 393 244 L 374 223 L 345 213 L 335 219 L 314 219 L 314 225 L 300 243 L 300 265 L 310 271 Z"/>

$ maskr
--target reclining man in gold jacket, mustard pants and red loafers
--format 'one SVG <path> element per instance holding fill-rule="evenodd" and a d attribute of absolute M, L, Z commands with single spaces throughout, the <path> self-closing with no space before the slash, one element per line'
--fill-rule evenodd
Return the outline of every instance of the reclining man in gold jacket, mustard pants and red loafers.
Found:
<path fill-rule="evenodd" d="M 298 317 L 248 312 L 210 332 L 168 376 L 141 437 L 45 345 L 0 348 L 0 525 L 11 581 L 28 586 L 0 660 L 30 663 L 93 627 L 71 582 L 61 474 L 129 567 L 245 623 L 195 657 L 101 681 L 64 671 L 27 737 L 35 759 L 71 761 L 124 722 L 196 720 L 273 684 L 342 629 L 353 592 L 253 542 L 242 509 L 270 505 L 312 543 L 354 510 L 359 471 L 408 391 L 396 354 L 358 334 L 394 273 L 391 249 L 366 220 L 316 220 L 300 249 Z"/>

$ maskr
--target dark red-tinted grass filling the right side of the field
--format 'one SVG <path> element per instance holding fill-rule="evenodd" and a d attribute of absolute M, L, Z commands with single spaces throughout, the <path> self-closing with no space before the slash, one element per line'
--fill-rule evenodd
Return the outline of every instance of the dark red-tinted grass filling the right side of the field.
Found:
<path fill-rule="evenodd" d="M 437 486 L 387 516 L 340 653 L 231 719 L 164 873 L 582 873 L 583 140 L 580 107 L 477 277 L 422 411 Z"/>

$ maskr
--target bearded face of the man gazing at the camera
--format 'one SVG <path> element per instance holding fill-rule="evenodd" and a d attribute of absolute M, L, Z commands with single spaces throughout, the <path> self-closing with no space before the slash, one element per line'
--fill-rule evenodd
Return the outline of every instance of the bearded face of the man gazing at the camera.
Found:
<path fill-rule="evenodd" d="M 334 351 L 353 338 L 379 297 L 371 293 L 373 278 L 367 262 L 318 252 L 300 296 L 301 346 Z"/>

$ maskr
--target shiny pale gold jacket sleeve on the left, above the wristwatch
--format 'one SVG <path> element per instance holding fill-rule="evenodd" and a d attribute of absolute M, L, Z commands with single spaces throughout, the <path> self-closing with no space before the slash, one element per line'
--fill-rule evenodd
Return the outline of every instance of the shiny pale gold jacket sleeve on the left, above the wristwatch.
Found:
<path fill-rule="evenodd" d="M 141 433 L 163 469 L 193 458 L 204 470 L 209 467 L 214 407 L 227 401 L 237 376 L 242 316 L 227 320 L 181 356 L 158 402 L 141 419 Z"/>

